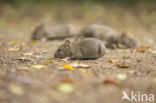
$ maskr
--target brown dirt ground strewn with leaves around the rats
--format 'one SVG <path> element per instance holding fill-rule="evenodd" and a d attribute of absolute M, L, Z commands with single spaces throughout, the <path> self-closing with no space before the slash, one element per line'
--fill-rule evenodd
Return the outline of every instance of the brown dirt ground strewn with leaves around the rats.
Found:
<path fill-rule="evenodd" d="M 121 101 L 123 91 L 156 96 L 156 54 L 150 47 L 107 50 L 96 60 L 52 59 L 61 43 L 1 39 L 0 103 L 131 103 Z M 61 68 L 73 63 L 89 67 Z"/>

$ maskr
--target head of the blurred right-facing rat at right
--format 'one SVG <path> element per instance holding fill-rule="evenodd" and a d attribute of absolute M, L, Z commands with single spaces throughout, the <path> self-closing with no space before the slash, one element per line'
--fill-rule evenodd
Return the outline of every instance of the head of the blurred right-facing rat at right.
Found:
<path fill-rule="evenodd" d="M 126 48 L 133 48 L 136 46 L 136 42 L 132 38 L 128 37 L 126 32 L 121 33 L 120 43 Z"/>

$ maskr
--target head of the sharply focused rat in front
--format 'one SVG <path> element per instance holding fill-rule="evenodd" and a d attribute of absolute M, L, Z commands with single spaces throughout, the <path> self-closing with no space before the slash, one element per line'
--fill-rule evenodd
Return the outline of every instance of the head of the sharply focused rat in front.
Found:
<path fill-rule="evenodd" d="M 70 56 L 71 48 L 70 41 L 66 40 L 64 44 L 62 44 L 55 52 L 56 58 L 64 58 Z"/>

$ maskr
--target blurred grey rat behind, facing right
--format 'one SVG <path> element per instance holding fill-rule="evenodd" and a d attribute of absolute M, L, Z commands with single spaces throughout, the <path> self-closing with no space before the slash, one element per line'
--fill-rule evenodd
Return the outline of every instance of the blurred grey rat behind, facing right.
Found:
<path fill-rule="evenodd" d="M 108 26 L 92 24 L 86 26 L 81 32 L 81 37 L 94 37 L 107 42 L 108 48 L 133 48 L 136 42 L 124 32 L 118 32 Z"/>

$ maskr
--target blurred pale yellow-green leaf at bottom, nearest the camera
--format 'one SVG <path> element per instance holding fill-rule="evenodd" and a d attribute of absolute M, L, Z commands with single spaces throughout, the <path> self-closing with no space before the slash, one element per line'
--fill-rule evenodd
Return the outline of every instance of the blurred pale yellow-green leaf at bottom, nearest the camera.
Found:
<path fill-rule="evenodd" d="M 56 89 L 63 93 L 72 93 L 74 91 L 74 86 L 71 83 L 59 83 Z"/>

